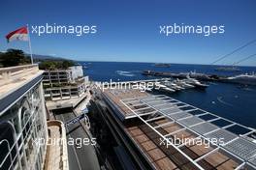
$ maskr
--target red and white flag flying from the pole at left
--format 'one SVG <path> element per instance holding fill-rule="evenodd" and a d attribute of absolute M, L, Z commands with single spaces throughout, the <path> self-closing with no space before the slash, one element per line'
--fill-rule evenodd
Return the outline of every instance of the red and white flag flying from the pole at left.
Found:
<path fill-rule="evenodd" d="M 28 41 L 28 31 L 27 27 L 21 27 L 18 28 L 16 31 L 13 31 L 9 33 L 6 36 L 7 42 L 12 42 L 12 41 Z"/>

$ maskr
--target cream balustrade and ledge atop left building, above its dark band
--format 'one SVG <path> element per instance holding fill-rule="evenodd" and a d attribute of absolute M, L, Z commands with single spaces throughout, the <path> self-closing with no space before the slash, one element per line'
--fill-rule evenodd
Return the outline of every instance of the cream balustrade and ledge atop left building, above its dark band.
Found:
<path fill-rule="evenodd" d="M 39 70 L 38 65 L 0 68 L 0 99 L 15 92 L 43 72 Z"/>

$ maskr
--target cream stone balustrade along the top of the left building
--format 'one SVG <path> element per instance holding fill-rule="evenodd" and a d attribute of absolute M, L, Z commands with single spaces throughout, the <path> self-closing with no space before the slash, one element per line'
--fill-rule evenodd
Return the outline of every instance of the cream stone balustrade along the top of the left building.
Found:
<path fill-rule="evenodd" d="M 27 75 L 39 71 L 38 65 L 24 65 L 9 68 L 0 68 L 0 86 L 16 82 Z"/>

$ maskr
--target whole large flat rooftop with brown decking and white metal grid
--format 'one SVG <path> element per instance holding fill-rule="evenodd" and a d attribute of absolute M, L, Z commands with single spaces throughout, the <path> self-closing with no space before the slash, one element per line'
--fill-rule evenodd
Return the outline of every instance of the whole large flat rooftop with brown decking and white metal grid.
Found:
<path fill-rule="evenodd" d="M 104 95 L 155 169 L 256 169 L 256 143 L 248 137 L 255 129 L 164 95 L 139 90 Z"/>

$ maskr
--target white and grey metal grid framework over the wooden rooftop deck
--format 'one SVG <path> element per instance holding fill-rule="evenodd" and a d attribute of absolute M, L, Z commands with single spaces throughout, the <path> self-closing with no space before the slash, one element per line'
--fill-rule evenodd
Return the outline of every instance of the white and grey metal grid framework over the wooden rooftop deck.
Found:
<path fill-rule="evenodd" d="M 228 156 L 232 156 L 233 158 L 237 159 L 240 162 L 240 165 L 236 169 L 241 169 L 244 167 L 249 167 L 250 169 L 256 169 L 256 143 L 248 140 L 244 136 L 249 135 L 256 131 L 253 128 L 247 128 L 242 126 L 238 123 L 230 121 L 226 118 L 222 118 L 217 116 L 213 113 L 209 113 L 203 109 L 197 108 L 193 105 L 187 104 L 177 99 L 173 99 L 167 97 L 165 95 L 152 95 L 147 97 L 136 97 L 136 98 L 129 98 L 129 99 L 121 99 L 120 100 L 129 110 L 131 110 L 136 117 L 141 119 L 145 125 L 149 128 L 152 128 L 157 134 L 159 134 L 164 140 L 169 142 L 176 150 L 182 155 L 185 156 L 189 161 L 191 161 L 195 166 L 199 169 L 204 169 L 198 161 L 213 154 L 217 151 L 224 152 Z M 142 114 L 138 112 L 138 110 L 133 109 L 130 107 L 129 104 L 136 103 L 137 106 L 146 105 L 146 108 L 151 107 L 155 110 L 155 112 L 151 112 L 149 114 Z M 167 106 L 167 107 L 165 107 Z M 139 110 L 140 111 L 140 110 Z M 193 112 L 199 111 L 199 114 L 193 114 Z M 144 118 L 144 115 L 150 115 L 148 118 Z M 212 119 L 203 120 L 200 116 L 212 116 Z M 150 125 L 150 122 L 160 120 L 162 118 L 168 118 L 170 122 L 164 123 L 158 126 Z M 216 120 L 224 120 L 230 123 L 225 127 L 218 127 L 211 122 Z M 157 128 L 161 128 L 164 126 L 171 125 L 173 123 L 178 124 L 181 128 L 173 131 L 172 133 L 168 133 L 163 135 Z M 237 135 L 226 128 L 231 128 L 233 126 L 240 126 L 241 128 L 246 128 L 249 131 Z M 182 143 L 178 146 L 173 144 L 168 136 L 176 134 L 182 130 L 189 130 L 194 134 L 198 135 L 197 138 L 203 138 L 213 146 L 213 150 L 209 151 L 207 154 L 198 157 L 197 159 L 192 159 L 191 157 L 187 156 L 184 152 L 181 151 L 181 147 L 186 145 L 186 143 Z M 218 143 L 217 145 L 212 143 L 210 139 L 220 139 L 224 138 L 224 144 Z"/>

